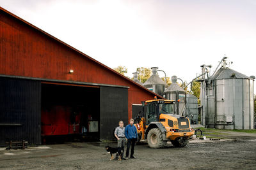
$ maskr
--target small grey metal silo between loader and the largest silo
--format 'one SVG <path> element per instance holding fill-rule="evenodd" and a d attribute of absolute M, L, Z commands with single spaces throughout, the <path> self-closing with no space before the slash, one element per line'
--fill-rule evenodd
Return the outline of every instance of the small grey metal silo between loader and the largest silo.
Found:
<path fill-rule="evenodd" d="M 186 94 L 186 115 L 191 124 L 198 123 L 198 99 L 193 94 Z"/>

